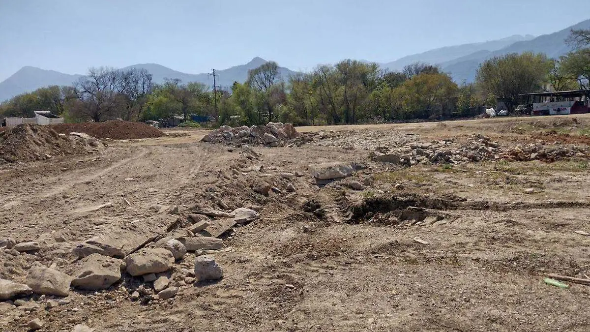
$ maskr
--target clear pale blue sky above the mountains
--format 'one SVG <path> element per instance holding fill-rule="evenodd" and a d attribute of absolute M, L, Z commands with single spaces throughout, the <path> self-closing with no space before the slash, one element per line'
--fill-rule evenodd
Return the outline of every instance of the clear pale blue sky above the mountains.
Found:
<path fill-rule="evenodd" d="M 582 2 L 0 0 L 0 82 L 23 66 L 84 74 L 158 63 L 196 74 L 257 56 L 299 71 L 345 58 L 385 63 L 562 30 L 590 17 L 575 10 Z"/>

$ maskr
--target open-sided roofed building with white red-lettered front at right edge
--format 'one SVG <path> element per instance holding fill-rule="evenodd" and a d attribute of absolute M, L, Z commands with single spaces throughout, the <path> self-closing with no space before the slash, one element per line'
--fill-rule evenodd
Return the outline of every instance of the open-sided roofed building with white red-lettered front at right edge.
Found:
<path fill-rule="evenodd" d="M 565 115 L 590 113 L 590 90 L 525 93 L 520 95 L 532 106 L 530 115 Z"/>

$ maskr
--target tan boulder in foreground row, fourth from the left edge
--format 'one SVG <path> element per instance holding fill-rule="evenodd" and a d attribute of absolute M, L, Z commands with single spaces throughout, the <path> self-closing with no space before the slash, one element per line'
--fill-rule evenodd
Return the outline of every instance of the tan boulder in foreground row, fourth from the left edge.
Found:
<path fill-rule="evenodd" d="M 132 276 L 168 271 L 174 263 L 174 256 L 168 249 L 143 249 L 124 259 L 127 273 Z"/>

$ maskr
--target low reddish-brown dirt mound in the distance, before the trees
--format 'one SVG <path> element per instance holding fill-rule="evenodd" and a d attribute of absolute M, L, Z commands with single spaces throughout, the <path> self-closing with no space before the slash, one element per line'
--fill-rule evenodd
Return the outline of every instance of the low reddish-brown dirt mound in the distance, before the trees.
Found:
<path fill-rule="evenodd" d="M 164 136 L 164 133 L 158 128 L 142 122 L 129 121 L 61 123 L 53 125 L 51 128 L 62 134 L 83 132 L 100 139 L 139 139 Z"/>

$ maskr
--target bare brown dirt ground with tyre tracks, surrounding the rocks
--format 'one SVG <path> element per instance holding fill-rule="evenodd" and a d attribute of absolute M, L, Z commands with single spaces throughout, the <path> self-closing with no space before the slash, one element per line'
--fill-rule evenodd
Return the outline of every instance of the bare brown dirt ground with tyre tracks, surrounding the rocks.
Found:
<path fill-rule="evenodd" d="M 588 155 L 411 166 L 370 157 L 405 139 L 458 144 L 473 134 L 501 147 L 588 148 L 588 128 L 588 115 L 307 127 L 297 130 L 326 132 L 252 149 L 182 130 L 110 141 L 95 155 L 2 165 L 0 238 L 42 246 L 0 249 L 0 278 L 17 282 L 35 265 L 67 273 L 71 249 L 92 236 L 165 228 L 178 216 L 162 207 L 186 217 L 222 200 L 227 211 L 260 206 L 261 218 L 212 253 L 224 269 L 217 282 L 183 282 L 188 253 L 170 272 L 180 288 L 171 300 L 132 301 L 143 281 L 126 275 L 105 291 L 72 288 L 65 300 L 0 302 L 0 331 L 26 331 L 33 318 L 40 331 L 590 331 L 590 287 L 543 282 L 590 275 L 590 237 L 575 233 L 590 233 Z M 309 165 L 333 161 L 363 167 L 319 187 Z M 255 193 L 260 181 L 276 190 Z M 47 308 L 50 298 L 60 305 Z"/>

